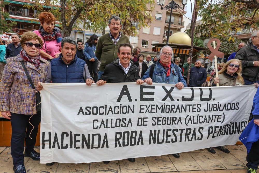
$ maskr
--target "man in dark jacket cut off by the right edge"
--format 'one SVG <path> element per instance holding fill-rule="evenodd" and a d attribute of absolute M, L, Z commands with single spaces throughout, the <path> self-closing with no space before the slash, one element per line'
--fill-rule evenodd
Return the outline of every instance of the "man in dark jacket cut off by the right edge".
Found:
<path fill-rule="evenodd" d="M 250 45 L 236 52 L 236 59 L 242 61 L 242 77 L 245 85 L 251 85 L 259 79 L 259 30 L 254 31 L 249 39 Z"/>

